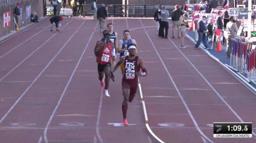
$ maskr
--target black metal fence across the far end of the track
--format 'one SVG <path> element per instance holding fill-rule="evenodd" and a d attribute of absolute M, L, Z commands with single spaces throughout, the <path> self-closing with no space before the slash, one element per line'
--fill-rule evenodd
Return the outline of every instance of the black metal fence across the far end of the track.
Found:
<path fill-rule="evenodd" d="M 100 5 L 98 5 L 99 7 Z M 113 4 L 106 7 L 108 17 L 154 17 L 159 5 L 119 5 Z M 167 10 L 171 14 L 174 5 L 167 5 Z M 60 16 L 93 16 L 94 11 L 91 4 L 77 6 L 57 5 L 57 15 Z M 44 16 L 53 15 L 53 6 L 44 5 Z"/>

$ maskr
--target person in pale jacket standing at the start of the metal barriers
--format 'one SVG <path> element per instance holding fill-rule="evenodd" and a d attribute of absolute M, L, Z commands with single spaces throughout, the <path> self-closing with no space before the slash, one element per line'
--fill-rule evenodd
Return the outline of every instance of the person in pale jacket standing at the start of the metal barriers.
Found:
<path fill-rule="evenodd" d="M 229 20 L 230 21 L 227 22 L 227 51 L 226 51 L 227 58 L 230 57 L 231 38 L 234 38 L 237 35 L 237 32 L 238 32 L 236 20 L 234 20 L 234 17 L 231 16 L 229 18 Z"/>

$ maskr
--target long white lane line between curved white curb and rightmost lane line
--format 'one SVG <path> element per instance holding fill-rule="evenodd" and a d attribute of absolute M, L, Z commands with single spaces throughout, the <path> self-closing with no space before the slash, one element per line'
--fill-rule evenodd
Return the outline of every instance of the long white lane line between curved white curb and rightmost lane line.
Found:
<path fill-rule="evenodd" d="M 139 20 L 140 20 L 140 19 L 139 19 Z M 143 26 L 141 20 L 140 20 L 140 22 L 141 22 L 141 25 Z M 144 31 L 145 31 L 145 33 L 147 34 L 148 39 L 149 39 L 149 41 L 151 42 L 153 48 L 155 49 L 156 54 L 157 54 L 157 56 L 159 57 L 161 63 L 163 64 L 164 69 L 165 69 L 165 71 L 166 71 L 167 74 L 168 74 L 168 77 L 170 78 L 172 84 L 174 85 L 174 87 L 175 87 L 175 89 L 176 89 L 176 91 L 177 91 L 179 97 L 181 98 L 181 100 L 182 100 L 182 102 L 183 102 L 183 104 L 184 104 L 186 110 L 188 111 L 188 113 L 189 113 L 189 115 L 190 115 L 190 117 L 191 117 L 193 123 L 195 124 L 197 131 L 198 131 L 204 138 L 206 138 L 208 141 L 213 142 L 211 139 L 209 139 L 209 138 L 202 132 L 202 130 L 200 130 L 200 128 L 199 128 L 199 126 L 198 126 L 198 124 L 197 124 L 197 122 L 196 122 L 195 117 L 193 117 L 193 115 L 192 115 L 192 113 L 191 113 L 191 111 L 190 111 L 188 105 L 186 104 L 185 100 L 183 99 L 183 96 L 181 95 L 181 92 L 179 92 L 179 89 L 178 89 L 177 85 L 175 84 L 174 79 L 172 79 L 170 72 L 168 71 L 166 65 L 164 64 L 162 57 L 160 56 L 160 54 L 159 54 L 158 51 L 156 50 L 156 47 L 155 47 L 153 41 L 151 40 L 150 36 L 148 35 L 148 33 L 147 33 L 147 31 L 146 31 L 145 28 L 144 28 Z M 176 45 L 175 45 L 175 46 L 176 46 Z"/>

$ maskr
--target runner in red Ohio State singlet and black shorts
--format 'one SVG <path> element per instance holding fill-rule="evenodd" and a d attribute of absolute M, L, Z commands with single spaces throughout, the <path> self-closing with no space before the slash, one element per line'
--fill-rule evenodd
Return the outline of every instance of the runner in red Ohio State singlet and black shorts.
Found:
<path fill-rule="evenodd" d="M 110 34 L 106 33 L 102 41 L 98 41 L 96 43 L 94 54 L 97 57 L 98 63 L 98 73 L 99 73 L 99 80 L 101 81 L 101 86 L 104 86 L 103 93 L 105 96 L 110 97 L 108 93 L 108 86 L 110 80 L 110 73 L 111 73 L 111 58 L 113 55 L 112 52 L 113 44 L 110 41 Z M 105 80 L 104 80 L 105 74 Z"/>

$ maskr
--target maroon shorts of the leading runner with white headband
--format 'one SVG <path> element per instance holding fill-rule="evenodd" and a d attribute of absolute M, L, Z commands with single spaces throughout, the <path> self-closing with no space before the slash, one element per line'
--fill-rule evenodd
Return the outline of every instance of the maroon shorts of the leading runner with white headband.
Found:
<path fill-rule="evenodd" d="M 122 79 L 122 89 L 130 89 L 130 95 L 136 94 L 138 79 Z"/>

